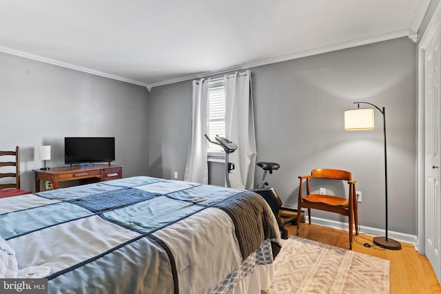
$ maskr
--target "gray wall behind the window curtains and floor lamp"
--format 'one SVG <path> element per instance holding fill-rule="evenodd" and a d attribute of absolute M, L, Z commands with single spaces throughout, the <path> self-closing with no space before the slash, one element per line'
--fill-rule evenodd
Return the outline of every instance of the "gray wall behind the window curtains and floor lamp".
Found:
<path fill-rule="evenodd" d="M 376 110 L 373 131 L 343 130 L 343 112 L 367 101 L 387 112 L 389 230 L 416 234 L 415 43 L 394 39 L 251 71 L 257 159 L 280 163 L 267 180 L 285 207 L 296 208 L 298 176 L 320 167 L 346 169 L 362 191 L 360 224 L 384 229 L 382 115 Z M 152 176 L 172 178 L 178 171 L 183 179 L 191 87 L 185 81 L 150 92 Z M 261 175 L 257 169 L 256 181 Z M 347 222 L 334 213 L 313 216 Z"/>

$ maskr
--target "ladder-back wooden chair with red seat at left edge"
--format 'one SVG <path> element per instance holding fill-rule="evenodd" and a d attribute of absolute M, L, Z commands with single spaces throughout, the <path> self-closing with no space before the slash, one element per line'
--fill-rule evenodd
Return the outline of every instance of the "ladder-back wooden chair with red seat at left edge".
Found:
<path fill-rule="evenodd" d="M 11 160 L 12 156 L 15 157 L 14 161 L 5 161 Z M 12 172 L 10 167 L 15 167 L 15 172 Z M 18 146 L 15 147 L 15 151 L 0 151 L 0 170 L 4 171 L 0 173 L 0 198 L 31 193 L 31 191 L 20 189 L 20 149 Z M 8 178 L 8 180 L 4 181 L 3 178 Z"/>

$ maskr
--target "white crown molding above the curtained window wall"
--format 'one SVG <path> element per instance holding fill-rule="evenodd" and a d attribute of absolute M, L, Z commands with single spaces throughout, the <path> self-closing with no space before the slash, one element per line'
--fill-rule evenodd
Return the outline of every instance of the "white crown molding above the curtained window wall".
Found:
<path fill-rule="evenodd" d="M 234 65 L 232 67 L 224 67 L 222 70 L 216 70 L 216 71 L 212 71 L 212 72 L 203 72 L 203 73 L 197 74 L 197 75 L 188 75 L 188 76 L 183 76 L 183 77 L 180 77 L 180 78 L 174 78 L 174 79 L 171 79 L 171 80 L 168 80 L 168 81 L 159 82 L 159 83 L 151 83 L 149 86 L 150 86 L 150 88 L 158 87 L 158 86 L 161 86 L 161 85 L 168 85 L 168 84 L 172 84 L 172 83 L 188 81 L 188 80 L 191 80 L 191 79 L 194 79 L 194 78 L 203 78 L 205 76 L 209 76 L 209 75 L 213 75 L 213 74 L 223 74 L 225 72 L 232 72 L 232 71 L 236 71 L 236 70 L 243 70 L 245 68 L 257 67 L 257 66 L 261 66 L 261 65 L 268 65 L 268 64 L 271 64 L 271 63 L 278 63 L 278 62 L 282 62 L 282 61 L 288 61 L 288 60 L 291 60 L 291 59 L 299 59 L 299 58 L 302 58 L 302 57 L 307 57 L 307 56 L 312 56 L 312 55 L 317 55 L 317 54 L 322 54 L 322 53 L 327 53 L 327 52 L 347 49 L 347 48 L 358 47 L 358 46 L 361 46 L 361 45 L 368 45 L 368 44 L 371 44 L 371 43 L 377 43 L 377 42 L 387 41 L 387 40 L 391 40 L 391 39 L 397 39 L 397 38 L 401 38 L 403 36 L 409 36 L 409 29 L 397 30 L 397 31 L 394 31 L 394 32 L 378 34 L 378 35 L 375 35 L 375 36 L 368 36 L 366 38 L 355 39 L 355 40 L 351 40 L 351 41 L 347 41 L 347 42 L 341 42 L 341 43 L 335 43 L 335 44 L 332 44 L 332 45 L 327 45 L 327 46 L 322 46 L 322 47 L 318 47 L 318 48 L 313 48 L 313 49 L 310 49 L 310 50 L 302 50 L 302 51 L 293 52 L 293 53 L 290 53 L 290 54 L 276 56 L 276 57 L 269 58 L 269 59 L 263 59 L 263 60 L 260 60 L 260 61 L 255 61 L 255 62 L 252 62 L 252 63 L 243 63 L 241 65 Z"/>

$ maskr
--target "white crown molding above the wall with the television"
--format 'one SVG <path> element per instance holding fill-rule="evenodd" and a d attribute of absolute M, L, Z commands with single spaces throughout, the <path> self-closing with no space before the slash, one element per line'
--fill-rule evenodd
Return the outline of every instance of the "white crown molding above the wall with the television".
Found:
<path fill-rule="evenodd" d="M 63 61 L 58 61 L 58 60 L 55 60 L 55 59 L 49 59 L 49 58 L 46 58 L 46 57 L 43 57 L 43 56 L 39 56 L 37 54 L 30 54 L 28 52 L 23 52 L 23 51 L 20 51 L 20 50 L 14 50 L 14 49 L 3 47 L 3 46 L 0 46 L 0 52 L 8 53 L 8 54 L 16 55 L 16 56 L 21 56 L 21 57 L 24 57 L 26 59 L 32 59 L 34 61 L 41 61 L 43 63 L 49 63 L 49 64 L 52 64 L 52 65 L 66 67 L 66 68 L 69 68 L 70 70 L 78 70 L 79 72 L 86 72 L 88 74 L 94 74 L 95 76 L 103 76 L 104 78 L 112 78 L 113 80 L 122 81 L 122 82 L 125 82 L 125 83 L 131 83 L 131 84 L 135 84 L 135 85 L 140 85 L 140 86 L 143 86 L 143 87 L 147 87 L 147 89 L 149 87 L 149 85 L 146 84 L 146 83 L 141 83 L 140 81 L 134 81 L 134 80 L 132 80 L 130 78 L 123 78 L 122 76 L 114 76 L 113 74 L 107 74 L 105 72 L 99 72 L 98 70 L 92 70 L 92 69 L 90 69 L 88 67 L 82 67 L 82 66 L 79 66 L 79 65 L 71 64 L 71 63 L 65 63 Z"/>

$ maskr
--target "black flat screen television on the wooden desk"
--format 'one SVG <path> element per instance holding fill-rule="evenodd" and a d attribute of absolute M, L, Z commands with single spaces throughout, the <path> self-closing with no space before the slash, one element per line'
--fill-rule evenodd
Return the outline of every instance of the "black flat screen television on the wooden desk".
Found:
<path fill-rule="evenodd" d="M 112 162 L 115 160 L 114 137 L 65 137 L 64 163 L 66 165 Z"/>

